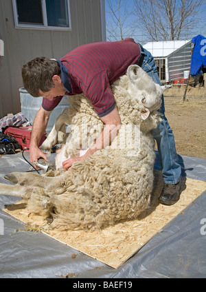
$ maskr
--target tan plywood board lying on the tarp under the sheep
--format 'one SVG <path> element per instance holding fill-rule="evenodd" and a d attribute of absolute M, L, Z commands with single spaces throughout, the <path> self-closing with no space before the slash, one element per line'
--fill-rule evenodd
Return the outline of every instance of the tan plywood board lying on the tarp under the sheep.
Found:
<path fill-rule="evenodd" d="M 29 214 L 23 201 L 3 210 L 22 222 L 35 223 L 48 236 L 117 269 L 179 213 L 183 216 L 183 209 L 206 189 L 206 182 L 183 178 L 180 200 L 175 205 L 165 206 L 158 201 L 163 187 L 161 171 L 155 171 L 154 185 L 151 207 L 141 213 L 138 220 L 119 222 L 102 231 L 45 230 L 41 217 Z"/>

